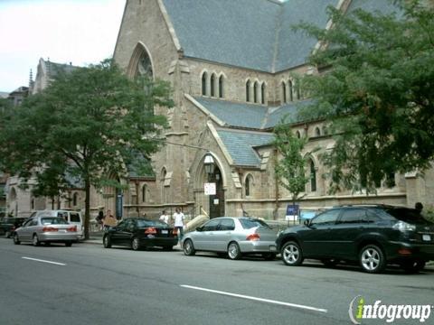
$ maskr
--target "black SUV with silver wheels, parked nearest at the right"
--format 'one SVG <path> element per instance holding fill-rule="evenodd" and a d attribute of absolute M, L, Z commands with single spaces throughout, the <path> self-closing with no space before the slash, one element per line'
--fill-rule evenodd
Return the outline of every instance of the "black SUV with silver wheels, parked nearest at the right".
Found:
<path fill-rule="evenodd" d="M 434 260 L 434 224 L 416 209 L 342 206 L 286 229 L 276 243 L 286 265 L 312 258 L 325 265 L 358 262 L 368 273 L 380 273 L 387 264 L 418 272 Z"/>

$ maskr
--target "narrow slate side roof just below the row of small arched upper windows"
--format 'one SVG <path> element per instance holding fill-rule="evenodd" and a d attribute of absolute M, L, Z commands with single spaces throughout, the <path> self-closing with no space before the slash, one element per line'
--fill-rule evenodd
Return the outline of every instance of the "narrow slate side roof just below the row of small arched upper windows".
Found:
<path fill-rule="evenodd" d="M 301 122 L 299 109 L 311 103 L 311 100 L 292 102 L 280 107 L 262 107 L 249 103 L 234 103 L 221 99 L 194 98 L 213 116 L 219 118 L 225 126 L 247 129 L 269 129 L 277 125 L 280 119 L 288 116 L 289 123 Z"/>

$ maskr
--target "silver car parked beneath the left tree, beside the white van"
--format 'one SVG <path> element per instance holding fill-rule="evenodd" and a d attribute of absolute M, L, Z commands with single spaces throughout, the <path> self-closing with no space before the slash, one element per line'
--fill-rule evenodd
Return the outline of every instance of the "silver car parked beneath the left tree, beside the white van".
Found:
<path fill-rule="evenodd" d="M 64 243 L 65 246 L 71 246 L 77 241 L 77 226 L 71 225 L 64 218 L 33 217 L 15 229 L 13 236 L 15 245 L 30 242 L 33 246 L 40 246 L 41 243 Z"/>

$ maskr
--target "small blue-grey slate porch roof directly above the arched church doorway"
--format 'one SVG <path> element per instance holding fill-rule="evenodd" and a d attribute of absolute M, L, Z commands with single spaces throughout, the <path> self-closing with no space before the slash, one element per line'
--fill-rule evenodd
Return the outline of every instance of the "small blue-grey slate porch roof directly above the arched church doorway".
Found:
<path fill-rule="evenodd" d="M 217 133 L 237 166 L 260 166 L 255 146 L 270 144 L 274 136 L 270 133 L 256 133 L 239 130 L 218 129 Z"/>

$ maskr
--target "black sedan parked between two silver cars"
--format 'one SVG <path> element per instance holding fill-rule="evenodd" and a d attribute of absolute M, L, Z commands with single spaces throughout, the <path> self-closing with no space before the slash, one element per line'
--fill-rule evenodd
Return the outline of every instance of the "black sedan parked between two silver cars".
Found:
<path fill-rule="evenodd" d="M 118 226 L 108 228 L 102 239 L 104 247 L 130 246 L 138 250 L 146 246 L 161 246 L 171 250 L 178 243 L 176 229 L 164 222 L 147 218 L 125 218 Z"/>

